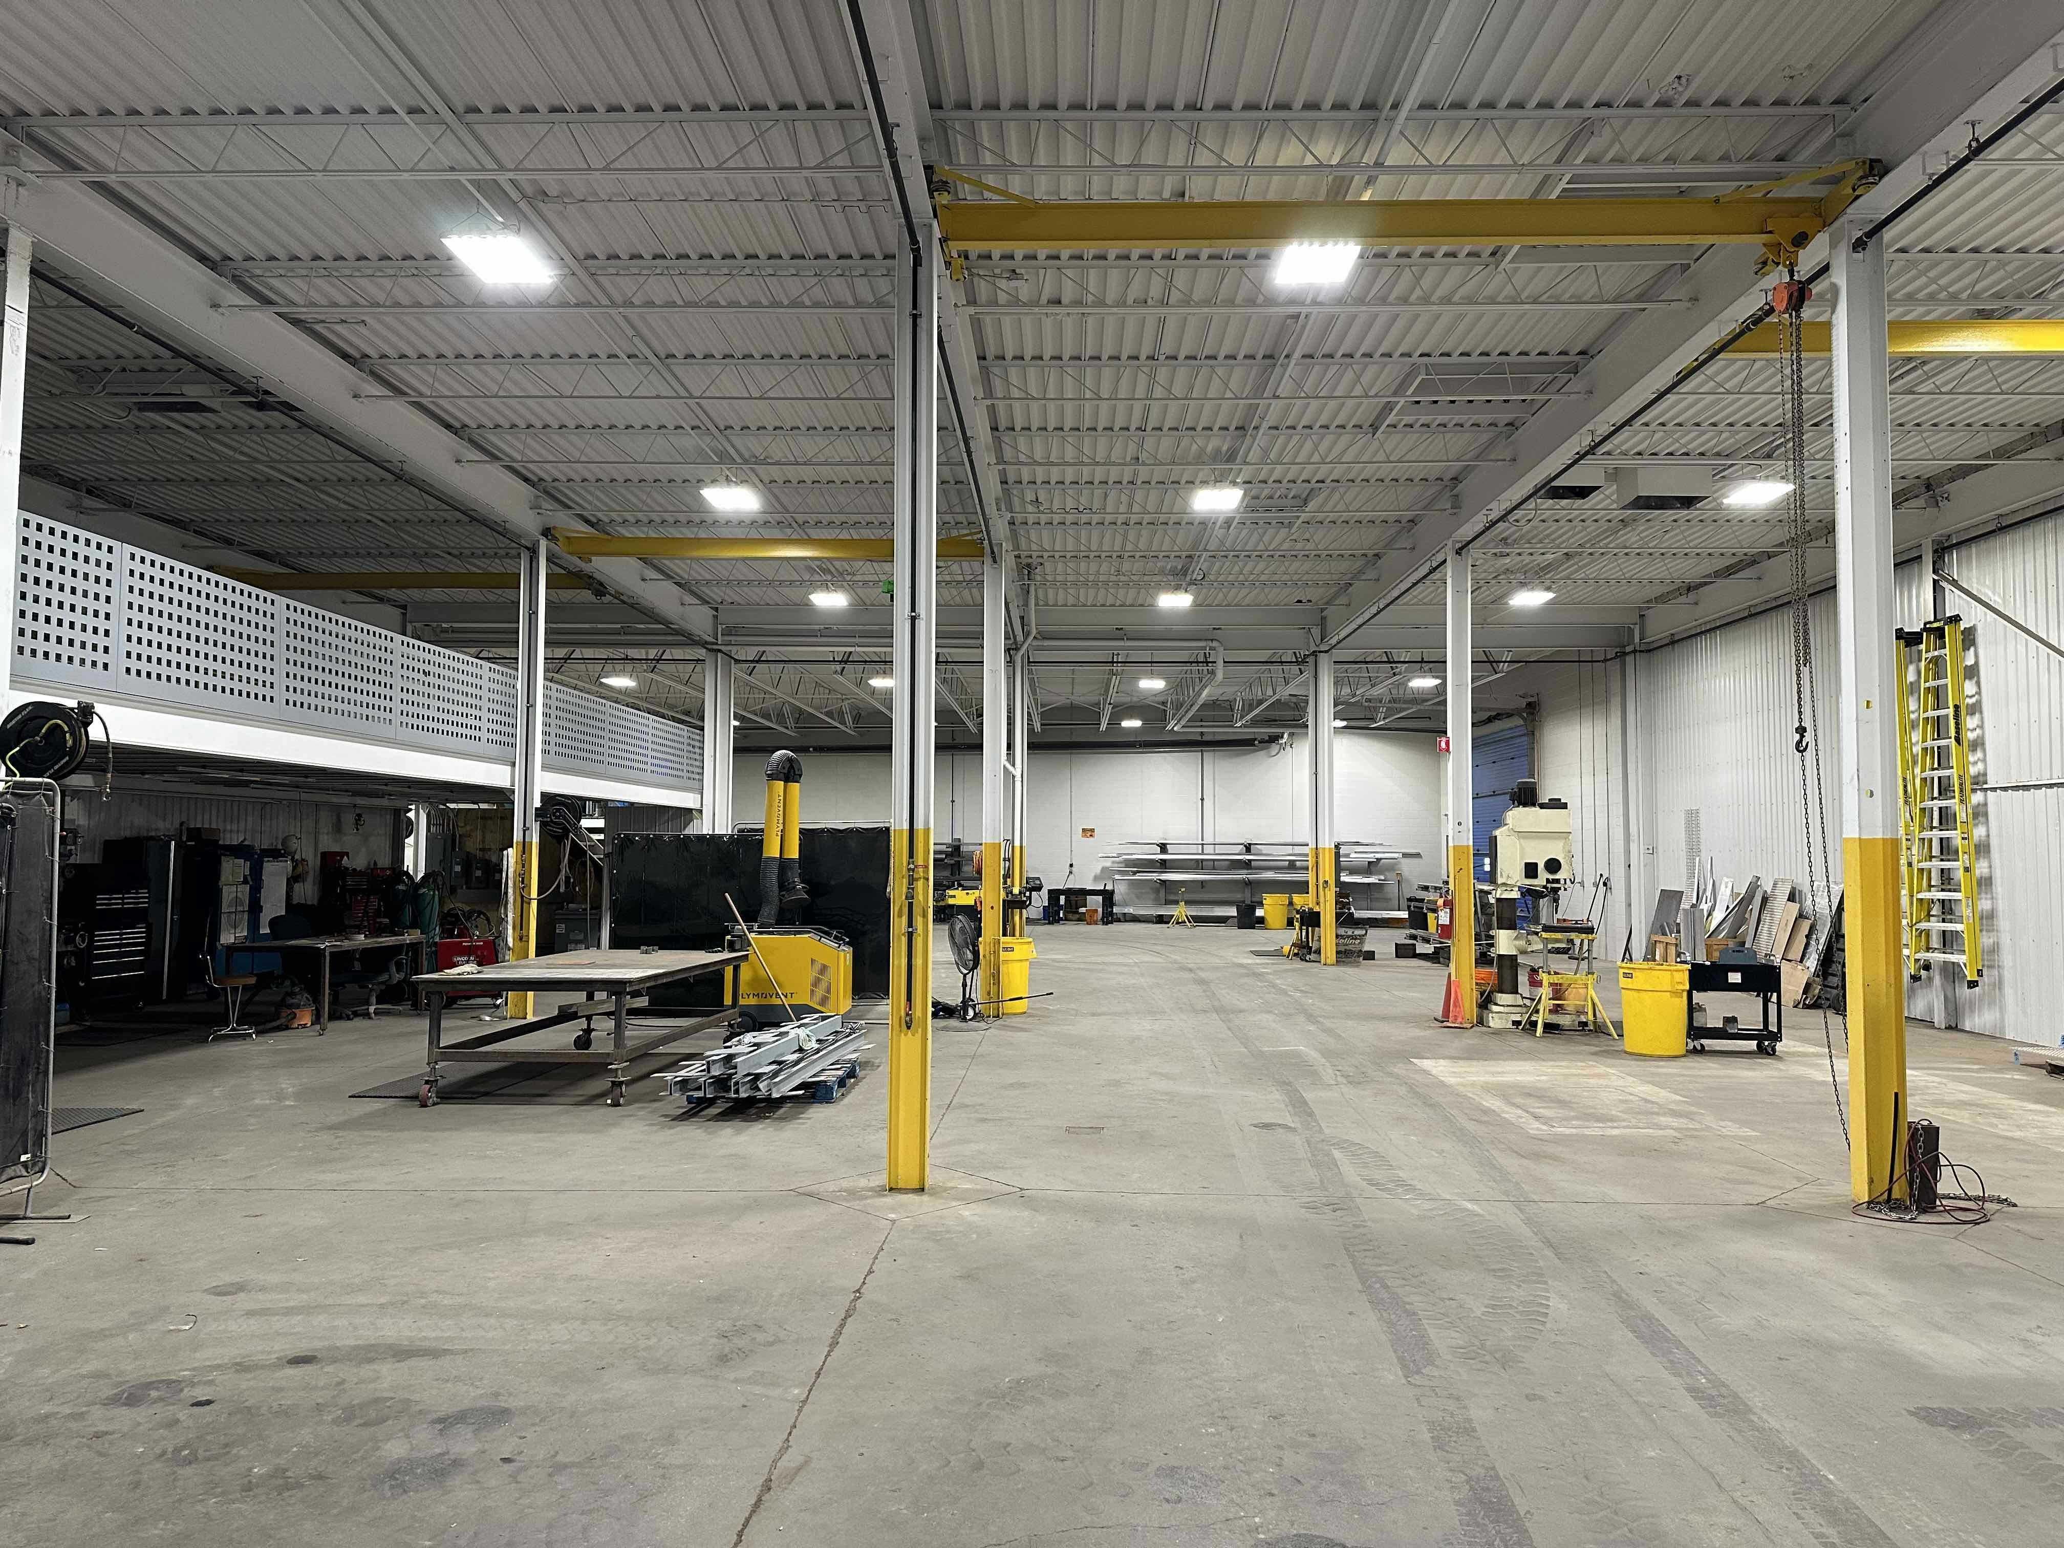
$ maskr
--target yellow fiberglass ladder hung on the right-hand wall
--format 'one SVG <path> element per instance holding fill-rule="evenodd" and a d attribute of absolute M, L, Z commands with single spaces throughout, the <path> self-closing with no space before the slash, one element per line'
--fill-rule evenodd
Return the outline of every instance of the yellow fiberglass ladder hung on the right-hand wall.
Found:
<path fill-rule="evenodd" d="M 1899 632 L 1899 836 L 1905 865 L 1907 976 L 1984 970 L 1977 935 L 1977 844 L 1971 836 L 1971 747 L 1963 621 Z"/>

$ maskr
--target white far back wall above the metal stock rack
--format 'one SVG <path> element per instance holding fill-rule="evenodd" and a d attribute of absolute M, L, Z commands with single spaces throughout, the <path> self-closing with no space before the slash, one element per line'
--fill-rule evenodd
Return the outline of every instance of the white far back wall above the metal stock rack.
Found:
<path fill-rule="evenodd" d="M 1195 751 L 1032 753 L 1026 786 L 1026 850 L 1046 881 L 1086 883 L 1098 859 L 1125 838 L 1286 840 L 1311 838 L 1307 739 L 1267 747 Z M 1420 850 L 1408 877 L 1441 871 L 1441 755 L 1432 737 L 1387 731 L 1335 733 L 1337 834 Z M 982 760 L 939 753 L 933 836 L 980 840 Z M 741 824 L 760 819 L 766 753 L 737 760 Z M 890 817 L 888 753 L 811 753 L 803 760 L 805 824 L 883 824 Z M 1082 830 L 1094 828 L 1096 838 Z"/>

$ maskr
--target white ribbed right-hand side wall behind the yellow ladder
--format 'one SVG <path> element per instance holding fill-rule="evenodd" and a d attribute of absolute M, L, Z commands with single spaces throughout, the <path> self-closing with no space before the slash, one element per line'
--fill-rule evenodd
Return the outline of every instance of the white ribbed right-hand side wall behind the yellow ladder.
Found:
<path fill-rule="evenodd" d="M 1942 566 L 1996 596 L 2052 640 L 2064 640 L 2064 516 L 1942 551 Z M 1911 627 L 1930 611 L 1917 563 L 1899 568 L 1897 611 Z M 2064 780 L 2064 660 L 1955 594 L 1975 642 L 1971 772 L 1977 784 Z M 1835 596 L 1812 601 L 1814 702 L 1827 850 L 1841 879 L 1841 729 L 1837 724 Z M 1639 731 L 1637 793 L 1643 840 L 1633 857 L 1637 929 L 1657 888 L 1686 873 L 1684 813 L 1701 817 L 1705 852 L 1742 885 L 1792 877 L 1806 885 L 1806 809 L 1816 805 L 1808 768 L 1792 749 L 1792 615 L 1777 609 L 1695 640 L 1645 652 L 1633 665 Z M 1626 931 L 1626 791 L 1620 776 L 1622 663 L 1538 669 L 1542 793 L 1577 809 L 1577 869 L 1614 869 L 1618 912 L 1610 956 Z M 1955 976 L 1909 985 L 1907 1013 L 2023 1042 L 2058 1044 L 2054 970 L 2064 918 L 2064 786 L 1996 791 L 1977 801 L 1979 927 L 1986 954 L 1975 991 Z"/>

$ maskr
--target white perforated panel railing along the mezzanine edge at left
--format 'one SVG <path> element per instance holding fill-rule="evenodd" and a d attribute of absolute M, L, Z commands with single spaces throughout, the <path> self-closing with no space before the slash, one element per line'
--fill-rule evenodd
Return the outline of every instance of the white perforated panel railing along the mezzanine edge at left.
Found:
<path fill-rule="evenodd" d="M 376 743 L 516 755 L 516 673 L 21 514 L 14 677 Z M 545 766 L 671 788 L 702 733 L 545 685 Z"/>

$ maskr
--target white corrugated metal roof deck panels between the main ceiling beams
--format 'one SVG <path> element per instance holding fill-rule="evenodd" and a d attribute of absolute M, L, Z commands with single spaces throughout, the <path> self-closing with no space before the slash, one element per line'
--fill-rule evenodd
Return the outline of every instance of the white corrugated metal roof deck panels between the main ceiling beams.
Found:
<path fill-rule="evenodd" d="M 37 149 L 159 173 L 493 165 L 510 175 L 483 186 L 512 190 L 526 221 L 590 268 L 533 293 L 483 291 L 440 248 L 477 208 L 456 178 L 190 175 L 111 190 L 223 264 L 225 299 L 328 308 L 287 316 L 355 361 L 367 392 L 419 398 L 545 506 L 594 512 L 611 530 L 735 533 L 698 489 L 747 475 L 770 493 L 776 530 L 888 533 L 892 338 L 877 308 L 898 221 L 832 0 L 213 0 L 175 25 L 149 10 L 10 12 L 6 114 L 165 116 L 43 122 L 29 130 Z M 1428 14 L 1443 25 L 1422 27 Z M 1847 105 L 1924 58 L 1940 14 L 1835 0 L 1798 37 L 1783 0 L 914 4 L 941 159 L 1040 198 L 1703 192 L 1765 163 L 1825 159 Z M 1769 47 L 1777 35 L 1796 45 Z M 1404 97 L 1416 111 L 1397 116 Z M 466 124 L 442 122 L 442 107 Z M 2056 161 L 2035 132 L 2002 155 Z M 1449 171 L 1352 171 L 1379 157 Z M 1313 165 L 1329 169 L 1298 171 Z M 2056 169 L 2019 167 L 1932 200 L 1899 229 L 1915 256 L 1895 260 L 1895 316 L 2054 314 L 2056 190 Z M 1637 303 L 1666 303 L 1684 256 L 1368 254 L 1327 299 L 1360 310 L 1340 312 L 1284 310 L 1265 254 L 970 262 L 976 390 L 1040 605 L 1137 607 L 1191 574 L 1201 607 L 1337 599 L 1418 512 L 1501 458 Z M 669 310 L 638 310 L 652 305 Z M 497 551 L 462 514 L 351 466 L 281 415 L 225 407 L 157 423 L 171 417 L 138 409 L 136 374 L 180 363 L 93 312 L 39 297 L 33 349 L 45 361 L 29 409 L 37 469 L 295 568 L 489 568 Z M 1484 363 L 1496 359 L 1511 363 Z M 1721 363 L 1614 450 L 1765 466 L 1775 384 L 1767 361 Z M 1823 363 L 1808 390 L 1827 392 Z M 2041 436 L 2064 423 L 2060 405 L 2064 361 L 1897 361 L 1897 471 L 1917 479 Z M 1249 489 L 1240 518 L 1197 522 L 1187 489 L 1234 475 Z M 1829 502 L 1823 469 L 1810 499 Z M 952 442 L 941 512 L 954 528 L 972 512 Z M 1554 576 L 1569 603 L 1645 605 L 1779 541 L 1779 522 L 1736 516 L 1628 514 L 1610 495 L 1525 510 L 1482 545 L 1480 574 L 1486 586 Z M 727 607 L 793 607 L 832 574 L 671 572 Z M 875 568 L 844 578 L 857 603 L 879 605 Z M 945 572 L 941 596 L 972 605 L 972 572 Z M 854 696 L 828 673 L 780 685 L 850 714 Z M 1098 673 L 1061 667 L 1040 683 L 1061 706 L 1104 689 Z M 1278 708 L 1294 714 L 1294 702 Z"/>

